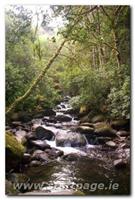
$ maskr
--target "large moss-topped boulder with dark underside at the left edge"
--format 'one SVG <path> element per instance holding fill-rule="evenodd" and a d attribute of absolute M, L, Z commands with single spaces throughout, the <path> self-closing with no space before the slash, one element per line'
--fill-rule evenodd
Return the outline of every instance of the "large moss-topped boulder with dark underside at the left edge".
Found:
<path fill-rule="evenodd" d="M 23 157 L 25 148 L 15 136 L 6 132 L 6 170 L 15 169 Z"/>

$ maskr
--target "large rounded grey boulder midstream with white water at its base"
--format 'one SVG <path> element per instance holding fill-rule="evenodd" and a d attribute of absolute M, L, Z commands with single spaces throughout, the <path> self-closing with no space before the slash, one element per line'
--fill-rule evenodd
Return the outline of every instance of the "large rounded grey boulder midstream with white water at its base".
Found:
<path fill-rule="evenodd" d="M 61 147 L 81 147 L 86 145 L 86 139 L 83 135 L 75 132 L 58 133 L 56 135 L 56 146 Z"/>

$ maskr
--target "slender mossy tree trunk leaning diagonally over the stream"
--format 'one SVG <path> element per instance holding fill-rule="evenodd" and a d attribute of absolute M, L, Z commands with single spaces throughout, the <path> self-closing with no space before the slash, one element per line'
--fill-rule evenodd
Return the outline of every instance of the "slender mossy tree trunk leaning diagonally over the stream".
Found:
<path fill-rule="evenodd" d="M 66 40 L 64 40 L 60 47 L 57 49 L 56 53 L 54 54 L 54 56 L 49 60 L 48 64 L 43 68 L 43 70 L 41 71 L 41 73 L 39 74 L 39 76 L 37 78 L 35 78 L 35 80 L 31 83 L 29 89 L 20 97 L 18 97 L 14 103 L 12 103 L 9 108 L 6 111 L 6 115 L 8 115 L 9 113 L 11 113 L 12 110 L 14 110 L 16 108 L 16 106 L 21 103 L 24 99 L 26 99 L 30 93 L 33 91 L 33 89 L 36 87 L 36 85 L 39 83 L 39 81 L 44 77 L 44 75 L 46 74 L 47 70 L 50 68 L 51 64 L 54 62 L 54 60 L 56 59 L 56 57 L 59 55 L 62 47 L 64 46 Z"/>

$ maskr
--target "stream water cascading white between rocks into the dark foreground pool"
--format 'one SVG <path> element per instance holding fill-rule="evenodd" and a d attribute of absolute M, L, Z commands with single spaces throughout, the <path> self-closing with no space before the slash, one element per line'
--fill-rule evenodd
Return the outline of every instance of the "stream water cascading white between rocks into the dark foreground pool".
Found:
<path fill-rule="evenodd" d="M 56 116 L 63 115 L 70 110 L 71 106 L 66 101 L 62 102 L 55 109 Z M 77 126 L 78 120 L 72 115 L 70 122 L 46 122 L 40 119 L 33 120 L 34 125 L 42 125 L 51 130 L 55 135 L 58 133 L 68 134 Z M 86 138 L 85 138 L 86 139 Z M 37 189 L 40 194 L 72 194 L 74 191 L 81 191 L 85 195 L 111 195 L 130 193 L 130 170 L 129 168 L 116 170 L 113 166 L 115 158 L 114 150 L 103 150 L 100 146 L 88 144 L 84 147 L 72 147 L 66 143 L 64 147 L 57 146 L 56 141 L 47 141 L 51 147 L 64 152 L 64 155 L 75 153 L 79 156 L 77 160 L 64 160 L 58 158 L 54 162 L 40 167 L 30 167 L 25 174 L 30 177 L 31 182 L 40 183 L 41 188 Z M 104 185 L 104 186 L 103 186 Z M 117 187 L 116 187 L 117 186 Z"/>

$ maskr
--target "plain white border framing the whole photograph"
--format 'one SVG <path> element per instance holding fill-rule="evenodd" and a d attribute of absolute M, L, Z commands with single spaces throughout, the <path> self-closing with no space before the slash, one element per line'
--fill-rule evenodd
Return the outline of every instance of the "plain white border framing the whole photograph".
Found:
<path fill-rule="evenodd" d="M 1 199 L 7 199 L 8 197 L 5 195 L 5 19 L 4 19 L 4 10 L 7 4 L 52 4 L 52 5 L 130 5 L 131 6 L 131 58 L 132 58 L 132 167 L 131 167 L 131 196 L 120 196 L 116 197 L 118 198 L 134 198 L 135 197 L 135 189 L 134 189 L 134 169 L 135 169 L 135 160 L 133 159 L 133 155 L 135 153 L 135 147 L 133 145 L 134 142 L 134 132 L 135 130 L 135 67 L 134 67 L 134 58 L 135 58 L 135 26 L 134 26 L 134 20 L 135 20 L 135 1 L 134 0 L 1 0 L 0 2 L 0 198 Z M 84 197 L 86 199 L 91 198 L 97 198 L 95 197 Z M 112 199 L 115 196 L 103 196 L 100 198 L 110 198 Z M 10 197 L 10 198 L 24 198 L 29 199 L 33 197 Z M 36 197 L 34 197 L 36 198 Z M 40 198 L 39 196 L 37 198 Z M 43 198 L 51 198 L 51 197 L 43 197 Z M 54 197 L 52 197 L 54 198 Z M 57 198 L 66 198 L 66 197 L 57 197 Z M 70 197 L 70 198 L 83 198 L 83 197 Z"/>

